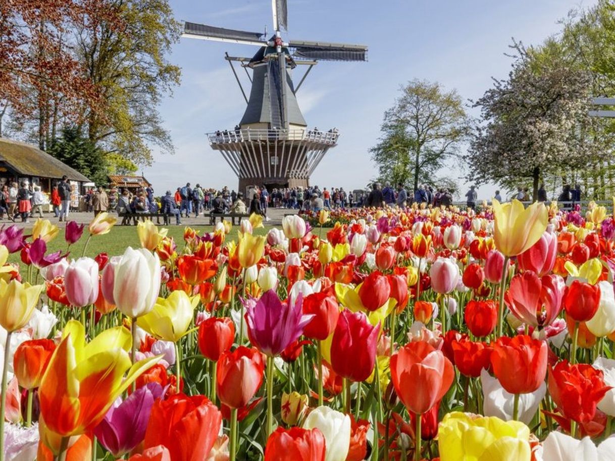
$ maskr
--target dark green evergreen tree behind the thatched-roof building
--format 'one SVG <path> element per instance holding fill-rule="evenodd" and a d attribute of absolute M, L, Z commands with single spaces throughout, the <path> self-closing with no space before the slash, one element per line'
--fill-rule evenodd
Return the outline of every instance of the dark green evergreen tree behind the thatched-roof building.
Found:
<path fill-rule="evenodd" d="M 84 136 L 79 127 L 64 128 L 62 136 L 49 146 L 49 154 L 96 184 L 108 183 L 105 152 Z"/>

